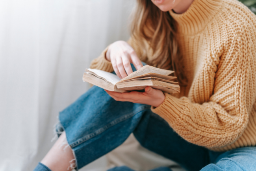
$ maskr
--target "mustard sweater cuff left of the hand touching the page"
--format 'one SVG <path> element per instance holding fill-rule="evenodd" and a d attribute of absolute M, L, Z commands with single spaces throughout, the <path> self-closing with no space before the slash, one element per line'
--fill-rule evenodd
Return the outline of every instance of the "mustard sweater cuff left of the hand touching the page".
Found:
<path fill-rule="evenodd" d="M 108 47 L 104 49 L 104 51 L 100 54 L 98 58 L 96 58 L 91 62 L 91 65 L 90 65 L 91 69 L 99 69 L 99 70 L 107 71 L 110 73 L 114 71 L 111 62 L 106 60 L 106 53 L 108 51 Z"/>

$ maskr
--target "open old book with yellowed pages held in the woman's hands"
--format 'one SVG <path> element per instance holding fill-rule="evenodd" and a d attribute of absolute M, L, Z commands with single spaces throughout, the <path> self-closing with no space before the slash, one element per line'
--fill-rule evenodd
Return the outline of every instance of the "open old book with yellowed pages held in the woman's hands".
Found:
<path fill-rule="evenodd" d="M 143 90 L 150 86 L 167 93 L 180 93 L 180 86 L 175 82 L 175 76 L 169 76 L 174 71 L 159 69 L 145 65 L 123 79 L 117 75 L 98 69 L 86 69 L 83 81 L 108 91 L 119 93 Z"/>

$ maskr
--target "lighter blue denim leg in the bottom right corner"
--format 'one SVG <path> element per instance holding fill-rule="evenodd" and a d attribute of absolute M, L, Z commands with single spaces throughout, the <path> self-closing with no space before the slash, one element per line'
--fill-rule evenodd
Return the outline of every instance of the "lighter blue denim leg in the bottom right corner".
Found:
<path fill-rule="evenodd" d="M 227 151 L 201 171 L 256 171 L 256 147 Z"/>

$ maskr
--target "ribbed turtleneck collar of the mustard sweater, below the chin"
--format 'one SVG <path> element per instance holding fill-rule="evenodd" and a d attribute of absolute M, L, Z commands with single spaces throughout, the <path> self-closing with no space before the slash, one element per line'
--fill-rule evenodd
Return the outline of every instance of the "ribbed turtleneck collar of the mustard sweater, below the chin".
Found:
<path fill-rule="evenodd" d="M 178 33 L 193 35 L 200 32 L 222 8 L 223 0 L 194 0 L 185 13 L 170 15 L 178 24 Z"/>

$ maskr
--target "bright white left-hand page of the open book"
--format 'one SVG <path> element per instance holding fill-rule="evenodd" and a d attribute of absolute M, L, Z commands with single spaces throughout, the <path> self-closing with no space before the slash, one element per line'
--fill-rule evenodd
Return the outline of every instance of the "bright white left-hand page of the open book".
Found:
<path fill-rule="evenodd" d="M 98 69 L 86 69 L 86 71 L 102 77 L 104 80 L 110 82 L 113 85 L 115 85 L 117 82 L 121 80 L 117 75 L 106 72 L 106 71 L 101 71 Z"/>

